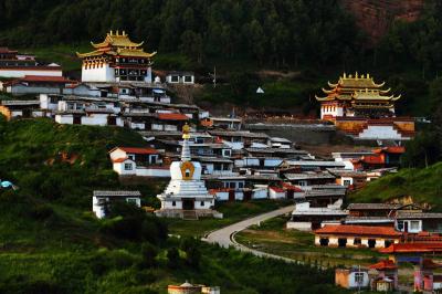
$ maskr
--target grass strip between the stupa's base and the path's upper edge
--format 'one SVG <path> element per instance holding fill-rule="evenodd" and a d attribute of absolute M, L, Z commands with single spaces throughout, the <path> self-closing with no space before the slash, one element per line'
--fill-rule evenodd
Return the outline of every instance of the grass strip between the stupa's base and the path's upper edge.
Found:
<path fill-rule="evenodd" d="M 219 202 L 215 209 L 223 219 L 202 218 L 198 221 L 169 219 L 169 231 L 181 237 L 203 237 L 210 231 L 267 211 L 290 206 L 291 201 L 252 200 L 249 202 Z"/>

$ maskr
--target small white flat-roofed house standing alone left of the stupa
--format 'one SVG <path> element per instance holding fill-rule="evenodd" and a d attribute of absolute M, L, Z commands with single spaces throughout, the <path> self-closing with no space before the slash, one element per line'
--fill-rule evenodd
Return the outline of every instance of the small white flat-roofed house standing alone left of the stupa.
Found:
<path fill-rule="evenodd" d="M 141 193 L 139 191 L 94 191 L 92 210 L 98 219 L 106 217 L 109 203 L 125 201 L 141 207 Z"/>

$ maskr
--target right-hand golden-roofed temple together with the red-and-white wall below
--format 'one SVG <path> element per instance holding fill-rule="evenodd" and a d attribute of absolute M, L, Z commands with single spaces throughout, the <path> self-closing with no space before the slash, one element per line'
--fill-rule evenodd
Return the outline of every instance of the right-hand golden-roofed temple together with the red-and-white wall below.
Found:
<path fill-rule="evenodd" d="M 369 75 L 339 76 L 328 82 L 320 102 L 320 119 L 333 122 L 337 129 L 357 139 L 407 140 L 414 136 L 414 120 L 397 117 L 394 104 L 401 95 L 390 94 L 385 82 L 377 84 Z"/>

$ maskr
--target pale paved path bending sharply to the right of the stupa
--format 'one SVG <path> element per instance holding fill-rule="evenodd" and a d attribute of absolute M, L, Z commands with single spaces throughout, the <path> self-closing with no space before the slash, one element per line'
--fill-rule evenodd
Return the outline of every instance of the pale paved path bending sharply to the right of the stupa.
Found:
<path fill-rule="evenodd" d="M 287 258 L 283 258 L 283 256 L 278 256 L 278 255 L 274 255 L 274 254 L 270 254 L 270 253 L 265 253 L 262 251 L 257 251 L 254 249 L 250 249 L 248 246 L 244 246 L 240 243 L 238 243 L 236 241 L 234 241 L 234 235 L 235 233 L 245 230 L 246 228 L 253 225 L 253 224 L 257 224 L 262 221 L 275 218 L 277 216 L 281 214 L 285 214 L 285 213 L 291 213 L 293 210 L 295 209 L 295 206 L 288 206 L 288 207 L 284 207 L 284 208 L 280 208 L 277 210 L 273 210 L 271 212 L 266 212 L 236 223 L 233 223 L 231 225 L 228 225 L 225 228 L 215 230 L 211 233 L 209 233 L 206 238 L 203 238 L 202 240 L 209 243 L 217 243 L 220 246 L 223 248 L 229 248 L 229 246 L 233 246 L 238 250 L 241 251 L 246 251 L 250 252 L 256 256 L 265 256 L 265 258 L 272 258 L 272 259 L 278 259 L 278 260 L 284 260 L 287 262 L 296 262 L 292 259 L 287 259 Z"/>

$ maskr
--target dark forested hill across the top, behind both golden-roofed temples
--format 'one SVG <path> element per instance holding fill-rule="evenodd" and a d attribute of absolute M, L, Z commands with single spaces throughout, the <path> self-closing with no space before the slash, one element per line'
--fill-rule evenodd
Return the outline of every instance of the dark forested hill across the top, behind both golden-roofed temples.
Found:
<path fill-rule="evenodd" d="M 434 42 L 442 31 L 440 1 L 427 0 L 419 21 L 399 21 L 375 50 L 343 1 L 2 0 L 0 45 L 101 41 L 109 29 L 119 29 L 147 40 L 148 50 L 181 52 L 200 64 L 240 59 L 286 69 L 339 65 L 339 71 L 386 63 L 415 63 L 427 72 L 441 66 L 440 54 L 433 54 L 442 51 Z"/>

